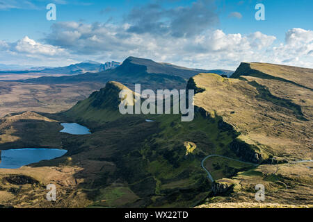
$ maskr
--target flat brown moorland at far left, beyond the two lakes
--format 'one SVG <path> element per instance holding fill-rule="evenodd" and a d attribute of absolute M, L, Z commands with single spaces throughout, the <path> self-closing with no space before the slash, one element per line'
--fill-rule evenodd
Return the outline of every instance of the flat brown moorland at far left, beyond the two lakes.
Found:
<path fill-rule="evenodd" d="M 60 112 L 100 89 L 101 83 L 29 84 L 0 81 L 0 117 L 13 112 Z"/>

